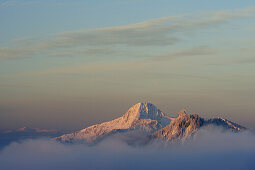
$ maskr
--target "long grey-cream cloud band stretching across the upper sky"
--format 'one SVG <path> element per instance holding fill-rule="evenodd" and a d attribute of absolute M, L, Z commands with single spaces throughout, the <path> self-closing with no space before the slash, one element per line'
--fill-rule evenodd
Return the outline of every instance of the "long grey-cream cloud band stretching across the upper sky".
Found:
<path fill-rule="evenodd" d="M 168 47 L 184 41 L 185 33 L 215 27 L 234 19 L 254 17 L 254 11 L 254 8 L 245 8 L 232 11 L 183 14 L 125 26 L 66 31 L 49 35 L 46 40 L 14 40 L 12 46 L 0 47 L 0 59 L 16 59 L 37 55 L 61 56 L 61 54 L 70 53 L 72 56 L 93 55 L 93 52 L 99 56 L 104 56 L 105 51 L 100 49 L 109 49 L 107 51 L 109 53 L 112 48 L 121 51 L 121 47 L 130 50 L 144 47 Z M 77 48 L 84 48 L 85 50 L 80 53 L 79 50 L 76 50 Z"/>

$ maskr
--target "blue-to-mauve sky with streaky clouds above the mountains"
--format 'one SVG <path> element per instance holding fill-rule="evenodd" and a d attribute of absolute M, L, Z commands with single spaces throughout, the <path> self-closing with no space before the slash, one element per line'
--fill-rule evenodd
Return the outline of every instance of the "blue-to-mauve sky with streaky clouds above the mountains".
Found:
<path fill-rule="evenodd" d="M 254 0 L 0 0 L 0 129 L 151 102 L 255 129 Z"/>

